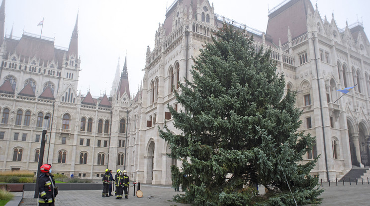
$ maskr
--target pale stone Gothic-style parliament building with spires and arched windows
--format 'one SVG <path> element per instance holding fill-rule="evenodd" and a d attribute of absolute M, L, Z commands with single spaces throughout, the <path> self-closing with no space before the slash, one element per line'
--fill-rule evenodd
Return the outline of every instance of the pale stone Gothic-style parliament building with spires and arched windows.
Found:
<path fill-rule="evenodd" d="M 171 184 L 169 145 L 159 137 L 165 120 L 175 134 L 167 104 L 178 105 L 173 85 L 191 80 L 191 57 L 223 22 L 246 29 L 256 50 L 271 48 L 286 90 L 297 92 L 300 130 L 316 136 L 303 159 L 321 154 L 312 175 L 331 180 L 370 165 L 370 43 L 363 24 L 338 28 L 310 0 L 285 0 L 269 10 L 266 32 L 215 13 L 208 0 L 175 0 L 148 46 L 143 84 L 130 96 L 126 59 L 116 69 L 110 96 L 77 91 L 80 68 L 78 14 L 67 49 L 54 39 L 23 32 L 4 36 L 0 7 L 0 170 L 36 172 L 46 115 L 44 162 L 54 173 L 100 178 L 106 168 L 125 169 L 142 183 Z M 154 33 L 154 31 L 153 31 Z M 121 72 L 122 71 L 122 72 Z M 343 93 L 337 90 L 353 87 Z M 339 99 L 338 101 L 336 101 Z"/>

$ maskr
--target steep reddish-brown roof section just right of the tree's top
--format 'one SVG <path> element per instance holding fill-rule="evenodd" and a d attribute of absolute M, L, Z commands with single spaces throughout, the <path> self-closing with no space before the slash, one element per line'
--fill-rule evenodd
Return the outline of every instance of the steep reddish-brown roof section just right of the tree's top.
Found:
<path fill-rule="evenodd" d="M 288 27 L 291 38 L 307 33 L 307 11 L 313 13 L 315 10 L 310 0 L 290 0 L 269 14 L 266 34 L 272 38 L 275 45 L 288 41 Z M 294 17 L 293 17 L 294 16 Z"/>

